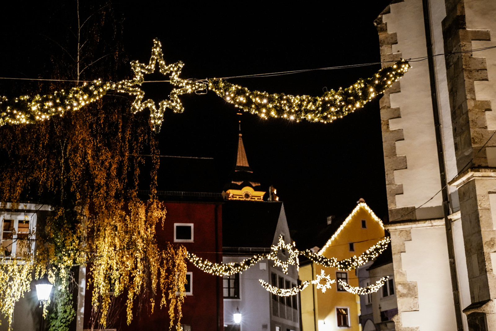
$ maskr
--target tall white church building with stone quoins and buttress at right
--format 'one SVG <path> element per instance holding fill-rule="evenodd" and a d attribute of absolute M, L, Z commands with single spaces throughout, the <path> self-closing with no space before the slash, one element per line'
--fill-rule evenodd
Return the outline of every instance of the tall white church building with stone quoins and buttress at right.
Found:
<path fill-rule="evenodd" d="M 496 330 L 495 17 L 395 0 L 375 21 L 383 66 L 412 59 L 380 100 L 396 330 Z"/>

